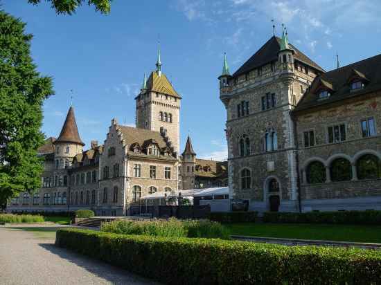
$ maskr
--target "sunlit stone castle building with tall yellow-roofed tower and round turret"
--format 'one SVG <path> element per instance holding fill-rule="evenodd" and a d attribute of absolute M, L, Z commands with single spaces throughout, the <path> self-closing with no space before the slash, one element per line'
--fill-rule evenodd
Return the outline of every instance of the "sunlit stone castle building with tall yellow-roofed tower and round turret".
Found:
<path fill-rule="evenodd" d="M 188 137 L 179 155 L 181 96 L 161 72 L 158 49 L 156 70 L 144 76 L 136 101 L 136 128 L 113 119 L 105 142 L 84 150 L 73 107 L 62 131 L 39 148 L 44 156 L 42 188 L 24 192 L 8 203 L 7 210 L 63 212 L 92 209 L 97 215 L 121 216 L 154 192 L 188 190 L 197 185 L 220 185 L 226 171 L 209 174 L 208 183 L 197 183 L 199 160 Z M 217 163 L 206 160 L 208 165 Z M 225 175 L 227 176 L 227 175 Z"/>

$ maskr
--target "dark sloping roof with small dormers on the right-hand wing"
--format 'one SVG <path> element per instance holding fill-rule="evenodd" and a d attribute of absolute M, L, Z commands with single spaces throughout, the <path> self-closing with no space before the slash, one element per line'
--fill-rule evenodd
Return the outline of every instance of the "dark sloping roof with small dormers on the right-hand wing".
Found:
<path fill-rule="evenodd" d="M 348 80 L 354 75 L 364 82 L 363 89 L 351 91 L 351 84 Z M 319 100 L 319 96 L 316 94 L 321 82 L 327 82 L 329 86 L 332 86 L 330 97 L 326 100 Z M 378 90 L 381 90 L 381 55 L 319 75 L 296 105 L 294 113 Z"/>

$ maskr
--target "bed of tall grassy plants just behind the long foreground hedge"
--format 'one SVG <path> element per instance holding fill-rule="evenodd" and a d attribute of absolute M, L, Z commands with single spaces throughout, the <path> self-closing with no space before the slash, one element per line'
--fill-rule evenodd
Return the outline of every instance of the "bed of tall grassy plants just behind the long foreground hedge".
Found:
<path fill-rule="evenodd" d="M 229 239 L 229 230 L 227 230 L 227 228 L 220 223 L 208 220 L 179 221 L 175 218 L 171 218 L 168 221 L 112 221 L 102 223 L 100 230 L 123 235 Z"/>

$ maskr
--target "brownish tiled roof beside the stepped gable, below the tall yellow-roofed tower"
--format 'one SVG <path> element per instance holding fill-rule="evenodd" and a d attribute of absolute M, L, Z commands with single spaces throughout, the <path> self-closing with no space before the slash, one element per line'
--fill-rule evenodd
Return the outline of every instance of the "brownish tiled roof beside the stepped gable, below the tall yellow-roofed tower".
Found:
<path fill-rule="evenodd" d="M 163 136 L 161 136 L 159 131 L 150 131 L 148 129 L 139 129 L 134 127 L 118 126 L 119 130 L 123 134 L 125 143 L 132 145 L 134 143 L 139 143 L 141 147 L 147 145 L 147 143 L 154 140 L 161 149 L 167 147 L 166 141 Z"/>

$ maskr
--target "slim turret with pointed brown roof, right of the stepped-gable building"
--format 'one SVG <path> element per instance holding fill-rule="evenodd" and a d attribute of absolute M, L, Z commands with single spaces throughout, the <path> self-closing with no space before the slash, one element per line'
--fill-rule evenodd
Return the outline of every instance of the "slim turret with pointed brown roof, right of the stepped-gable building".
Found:
<path fill-rule="evenodd" d="M 189 190 L 195 188 L 195 167 L 196 167 L 196 153 L 193 150 L 190 137 L 186 140 L 186 146 L 182 153 L 181 160 L 181 179 L 182 190 Z"/>

